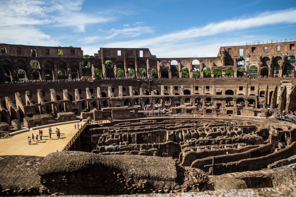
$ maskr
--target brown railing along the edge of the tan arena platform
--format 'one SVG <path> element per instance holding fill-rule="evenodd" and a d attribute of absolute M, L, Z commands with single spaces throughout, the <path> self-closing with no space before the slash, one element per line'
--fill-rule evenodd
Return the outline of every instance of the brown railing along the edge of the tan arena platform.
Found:
<path fill-rule="evenodd" d="M 82 125 L 82 127 L 76 132 L 76 134 L 70 139 L 70 141 L 66 144 L 66 146 L 63 148 L 62 151 L 68 151 L 73 144 L 76 142 L 76 140 L 79 138 L 80 134 L 85 130 L 85 128 L 88 125 L 94 125 L 94 124 L 107 124 L 111 123 L 111 120 L 109 117 L 103 117 L 101 119 L 91 119 L 88 117 L 85 121 L 85 123 Z"/>

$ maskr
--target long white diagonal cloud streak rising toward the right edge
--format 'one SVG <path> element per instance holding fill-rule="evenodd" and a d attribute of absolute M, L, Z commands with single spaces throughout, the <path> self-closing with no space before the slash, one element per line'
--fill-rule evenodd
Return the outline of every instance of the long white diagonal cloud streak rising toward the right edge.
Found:
<path fill-rule="evenodd" d="M 106 47 L 133 47 L 141 48 L 153 46 L 159 43 L 176 42 L 187 38 L 197 38 L 202 36 L 214 35 L 222 32 L 231 32 L 235 30 L 243 30 L 258 26 L 265 26 L 276 23 L 295 23 L 296 10 L 280 10 L 276 12 L 265 12 L 253 18 L 242 18 L 227 20 L 218 23 L 210 23 L 203 27 L 191 28 L 162 36 L 131 40 L 124 42 L 113 42 L 105 45 Z"/>

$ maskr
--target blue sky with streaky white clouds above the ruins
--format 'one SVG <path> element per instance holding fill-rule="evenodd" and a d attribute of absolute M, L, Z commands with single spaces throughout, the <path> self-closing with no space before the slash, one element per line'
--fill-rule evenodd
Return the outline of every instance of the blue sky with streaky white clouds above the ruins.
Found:
<path fill-rule="evenodd" d="M 295 0 L 0 0 L 0 43 L 150 48 L 215 57 L 220 46 L 296 38 Z"/>

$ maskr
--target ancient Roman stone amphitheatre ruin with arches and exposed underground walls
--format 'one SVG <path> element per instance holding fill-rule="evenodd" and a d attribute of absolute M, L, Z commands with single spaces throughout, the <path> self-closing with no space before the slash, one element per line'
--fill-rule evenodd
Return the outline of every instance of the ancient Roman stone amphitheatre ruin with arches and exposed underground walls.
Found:
<path fill-rule="evenodd" d="M 0 195 L 295 196 L 295 43 L 0 44 Z"/>

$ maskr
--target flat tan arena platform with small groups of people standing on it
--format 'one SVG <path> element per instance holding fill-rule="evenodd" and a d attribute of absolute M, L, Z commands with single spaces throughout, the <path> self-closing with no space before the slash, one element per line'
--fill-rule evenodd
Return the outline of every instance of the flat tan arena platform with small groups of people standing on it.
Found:
<path fill-rule="evenodd" d="M 56 134 L 51 134 L 52 139 L 49 139 L 48 127 L 43 128 L 43 137 L 40 140 L 38 136 L 38 143 L 32 140 L 31 145 L 28 145 L 28 136 L 32 133 L 38 134 L 39 130 L 27 131 L 21 134 L 10 136 L 7 139 L 0 139 L 0 155 L 34 155 L 46 156 L 49 153 L 62 151 L 69 140 L 78 131 L 74 129 L 74 124 L 65 124 L 56 126 L 60 129 L 60 139 L 57 139 Z M 77 123 L 76 123 L 77 124 Z M 56 127 L 51 127 L 52 132 L 55 132 Z"/>

